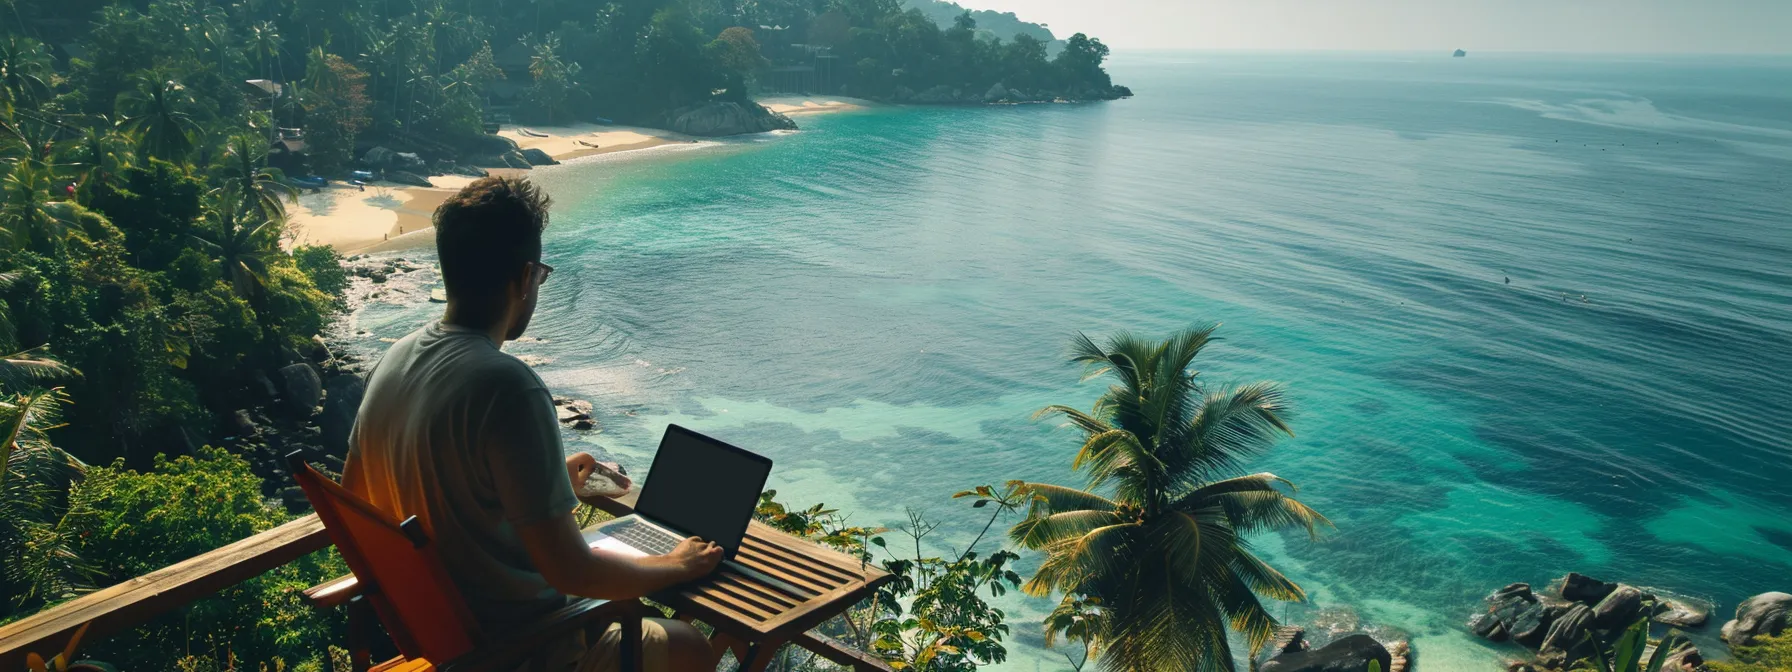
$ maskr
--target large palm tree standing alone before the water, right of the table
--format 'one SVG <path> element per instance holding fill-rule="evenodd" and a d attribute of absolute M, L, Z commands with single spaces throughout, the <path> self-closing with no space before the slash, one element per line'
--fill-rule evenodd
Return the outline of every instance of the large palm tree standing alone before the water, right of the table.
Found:
<path fill-rule="evenodd" d="M 1098 650 L 1104 670 L 1231 670 L 1228 625 L 1256 649 L 1276 625 L 1258 597 L 1305 599 L 1251 554 L 1247 536 L 1331 525 L 1290 496 L 1288 480 L 1228 477 L 1292 432 L 1278 385 L 1197 380 L 1190 366 L 1215 328 L 1163 342 L 1122 332 L 1106 346 L 1079 333 L 1072 360 L 1090 367 L 1084 380 L 1107 375 L 1115 385 L 1090 412 L 1054 405 L 1036 416 L 1063 416 L 1084 434 L 1072 468 L 1090 482 L 1025 484 L 1032 504 L 1009 536 L 1045 561 L 1021 590 L 1082 600 L 1088 618 L 1068 620 L 1082 631 L 1066 634 Z"/>

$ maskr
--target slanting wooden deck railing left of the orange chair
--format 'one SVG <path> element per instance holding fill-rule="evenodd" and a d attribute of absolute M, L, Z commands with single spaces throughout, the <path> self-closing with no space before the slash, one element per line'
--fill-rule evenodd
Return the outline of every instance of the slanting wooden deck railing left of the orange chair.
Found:
<path fill-rule="evenodd" d="M 63 650 L 82 624 L 84 642 L 129 629 L 179 609 L 267 570 L 330 547 L 317 516 L 305 516 L 247 539 L 102 588 L 50 609 L 0 625 L 0 672 L 23 670 L 25 654 Z"/>

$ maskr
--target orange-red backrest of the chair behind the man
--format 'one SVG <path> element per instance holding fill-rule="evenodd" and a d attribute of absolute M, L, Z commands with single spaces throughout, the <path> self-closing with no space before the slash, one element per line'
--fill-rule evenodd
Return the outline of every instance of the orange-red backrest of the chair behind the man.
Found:
<path fill-rule="evenodd" d="M 398 650 L 437 663 L 473 650 L 478 624 L 435 554 L 423 520 L 398 521 L 375 509 L 317 473 L 299 452 L 287 455 L 287 462 Z"/>

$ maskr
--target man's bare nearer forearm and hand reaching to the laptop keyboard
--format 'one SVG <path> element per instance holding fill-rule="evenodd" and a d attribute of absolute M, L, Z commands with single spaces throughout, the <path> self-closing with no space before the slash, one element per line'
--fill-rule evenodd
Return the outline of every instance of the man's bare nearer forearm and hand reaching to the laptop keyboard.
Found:
<path fill-rule="evenodd" d="M 722 547 L 697 538 L 670 554 L 631 557 L 586 545 L 572 511 L 516 529 L 548 586 L 566 595 L 629 600 L 702 577 L 722 561 Z"/>

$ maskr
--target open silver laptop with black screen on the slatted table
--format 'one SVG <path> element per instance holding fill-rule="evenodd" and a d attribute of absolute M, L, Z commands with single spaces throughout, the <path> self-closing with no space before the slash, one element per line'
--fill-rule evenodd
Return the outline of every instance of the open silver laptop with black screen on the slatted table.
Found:
<path fill-rule="evenodd" d="M 625 556 L 665 556 L 697 536 L 722 547 L 729 570 L 772 581 L 735 563 L 771 473 L 763 455 L 668 425 L 634 513 L 586 530 L 584 539 Z"/>

